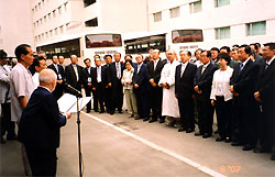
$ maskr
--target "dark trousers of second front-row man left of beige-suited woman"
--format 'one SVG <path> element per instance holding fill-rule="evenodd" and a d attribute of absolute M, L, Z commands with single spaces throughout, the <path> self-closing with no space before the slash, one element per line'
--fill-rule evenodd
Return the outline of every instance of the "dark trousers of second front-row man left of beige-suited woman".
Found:
<path fill-rule="evenodd" d="M 96 91 L 94 91 L 95 96 L 94 96 L 94 110 L 98 110 L 98 102 L 100 106 L 100 110 L 105 111 L 105 104 L 103 104 L 103 85 L 102 82 L 98 82 L 96 84 Z"/>

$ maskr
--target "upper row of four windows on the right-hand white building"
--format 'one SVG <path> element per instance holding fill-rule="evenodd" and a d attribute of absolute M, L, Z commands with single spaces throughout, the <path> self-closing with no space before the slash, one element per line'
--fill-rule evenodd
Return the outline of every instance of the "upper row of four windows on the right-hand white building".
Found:
<path fill-rule="evenodd" d="M 201 1 L 202 0 L 198 0 L 198 1 L 189 3 L 190 13 L 197 13 L 197 12 L 200 12 L 202 10 Z M 219 7 L 223 7 L 223 5 L 228 5 L 228 4 L 230 4 L 230 0 L 215 0 L 215 8 L 219 8 Z M 169 9 L 169 18 L 170 19 L 179 18 L 180 16 L 179 9 L 180 9 L 179 7 Z M 154 22 L 162 21 L 162 12 L 153 13 L 153 15 L 154 15 Z"/>

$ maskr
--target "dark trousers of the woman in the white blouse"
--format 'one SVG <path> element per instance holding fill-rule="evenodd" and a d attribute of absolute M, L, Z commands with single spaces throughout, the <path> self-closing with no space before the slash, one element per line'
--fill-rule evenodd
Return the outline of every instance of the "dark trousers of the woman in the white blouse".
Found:
<path fill-rule="evenodd" d="M 231 139 L 232 100 L 224 101 L 224 97 L 216 97 L 215 108 L 220 137 Z"/>

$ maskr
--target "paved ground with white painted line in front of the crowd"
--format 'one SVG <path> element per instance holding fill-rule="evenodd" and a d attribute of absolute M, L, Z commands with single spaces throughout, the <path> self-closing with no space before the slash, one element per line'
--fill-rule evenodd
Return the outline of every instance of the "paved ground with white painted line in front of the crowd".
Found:
<path fill-rule="evenodd" d="M 165 124 L 129 119 L 127 114 L 81 113 L 84 176 L 179 177 L 274 176 L 270 154 L 178 133 Z M 20 145 L 1 147 L 0 175 L 23 176 Z M 74 115 L 62 129 L 57 176 L 78 176 L 77 124 Z"/>

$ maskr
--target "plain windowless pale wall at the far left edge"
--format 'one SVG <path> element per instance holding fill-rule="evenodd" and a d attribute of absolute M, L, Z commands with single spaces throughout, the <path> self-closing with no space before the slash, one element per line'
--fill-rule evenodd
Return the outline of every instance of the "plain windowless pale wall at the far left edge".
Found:
<path fill-rule="evenodd" d="M 0 0 L 0 48 L 9 56 L 22 43 L 34 48 L 30 0 Z"/>

